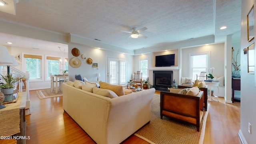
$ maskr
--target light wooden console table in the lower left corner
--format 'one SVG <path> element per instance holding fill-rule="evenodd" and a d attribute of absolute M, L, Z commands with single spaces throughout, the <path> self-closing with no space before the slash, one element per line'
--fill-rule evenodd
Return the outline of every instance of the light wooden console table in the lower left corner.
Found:
<path fill-rule="evenodd" d="M 26 94 L 22 96 L 22 92 L 18 92 L 18 95 L 17 102 L 5 104 L 6 108 L 0 109 L 0 136 L 12 136 L 12 138 L 23 136 L 23 138 L 17 139 L 17 144 L 26 144 L 26 138 L 24 139 L 26 137 Z"/>

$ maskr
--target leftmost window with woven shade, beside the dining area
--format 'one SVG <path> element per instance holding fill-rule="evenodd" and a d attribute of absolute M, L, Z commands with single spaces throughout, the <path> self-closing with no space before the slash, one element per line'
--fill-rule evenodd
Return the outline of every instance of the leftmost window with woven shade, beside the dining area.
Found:
<path fill-rule="evenodd" d="M 42 56 L 24 54 L 26 59 L 25 66 L 26 71 L 29 72 L 30 79 L 41 79 L 41 70 L 42 70 Z"/>

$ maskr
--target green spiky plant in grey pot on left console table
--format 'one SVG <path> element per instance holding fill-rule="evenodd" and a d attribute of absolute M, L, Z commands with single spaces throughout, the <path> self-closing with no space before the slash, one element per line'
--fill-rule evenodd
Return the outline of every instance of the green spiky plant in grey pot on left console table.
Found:
<path fill-rule="evenodd" d="M 14 93 L 14 84 L 22 79 L 23 77 L 14 76 L 12 74 L 2 75 L 2 79 L 5 81 L 5 84 L 0 85 L 1 92 L 4 93 L 4 102 L 12 101 L 12 96 Z"/>

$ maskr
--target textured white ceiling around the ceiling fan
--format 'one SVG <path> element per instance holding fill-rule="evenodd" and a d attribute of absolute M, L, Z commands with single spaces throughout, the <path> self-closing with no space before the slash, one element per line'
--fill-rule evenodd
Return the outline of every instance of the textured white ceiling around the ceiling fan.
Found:
<path fill-rule="evenodd" d="M 0 12 L 0 18 L 136 50 L 209 35 L 215 42 L 224 42 L 228 34 L 239 40 L 241 0 L 19 0 L 16 15 Z M 128 38 L 129 33 L 120 31 L 144 26 L 146 39 Z M 0 45 L 13 37 L 0 34 Z M 42 46 L 34 44 L 29 47 Z"/>

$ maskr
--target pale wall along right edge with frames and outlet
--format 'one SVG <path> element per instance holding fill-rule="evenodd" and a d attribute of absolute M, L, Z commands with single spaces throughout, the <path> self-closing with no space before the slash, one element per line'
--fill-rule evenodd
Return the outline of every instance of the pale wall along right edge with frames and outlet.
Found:
<path fill-rule="evenodd" d="M 252 42 L 247 42 L 247 14 L 255 3 L 255 0 L 242 0 L 242 21 L 241 21 L 241 48 L 247 48 Z M 255 13 L 255 6 L 254 6 Z M 256 34 L 254 16 L 254 34 Z M 241 113 L 239 134 L 242 140 L 248 144 L 256 142 L 256 81 L 255 74 L 247 73 L 247 55 L 241 53 Z M 248 132 L 248 123 L 252 125 L 252 133 Z"/>

